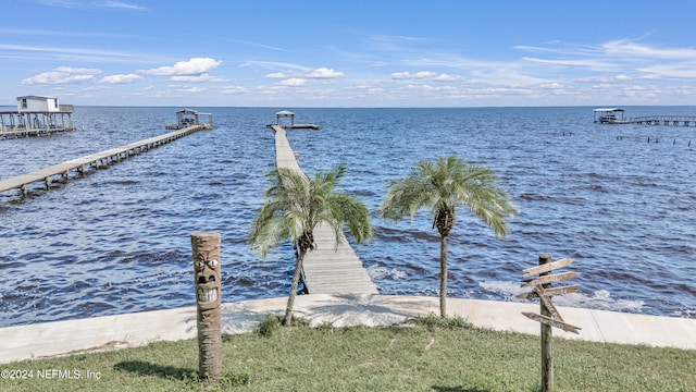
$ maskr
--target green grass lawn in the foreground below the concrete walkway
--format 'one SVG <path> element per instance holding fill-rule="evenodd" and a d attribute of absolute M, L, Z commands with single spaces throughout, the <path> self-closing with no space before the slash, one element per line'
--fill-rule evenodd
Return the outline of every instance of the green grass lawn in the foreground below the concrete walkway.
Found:
<path fill-rule="evenodd" d="M 224 335 L 223 377 L 216 383 L 198 381 L 197 341 L 187 340 L 0 365 L 34 376 L 3 377 L 0 390 L 538 391 L 538 336 L 432 321 L 389 328 L 271 326 L 266 333 Z M 79 379 L 65 378 L 69 370 L 73 377 L 79 371 Z M 696 391 L 696 351 L 555 339 L 554 371 L 557 391 Z"/>

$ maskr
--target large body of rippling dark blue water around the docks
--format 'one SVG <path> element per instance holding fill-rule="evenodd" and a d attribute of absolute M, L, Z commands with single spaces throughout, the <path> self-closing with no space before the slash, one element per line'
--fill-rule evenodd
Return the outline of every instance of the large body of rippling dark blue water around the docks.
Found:
<path fill-rule="evenodd" d="M 0 140 L 0 177 L 162 134 L 177 109 L 78 107 L 79 131 Z M 245 244 L 275 163 L 265 125 L 278 109 L 197 109 L 213 113 L 213 131 L 50 192 L 0 195 L 0 327 L 194 305 L 189 234 L 198 231 L 222 234 L 224 302 L 287 294 L 291 247 L 262 261 Z M 582 272 L 572 281 L 580 293 L 559 305 L 696 317 L 696 128 L 598 125 L 592 108 L 294 111 L 321 125 L 288 134 L 300 167 L 347 164 L 340 188 L 373 217 L 386 183 L 418 160 L 455 154 L 498 174 L 521 213 L 500 240 L 459 210 L 449 296 L 517 301 L 522 269 L 548 253 L 574 258 Z M 356 250 L 380 292 L 437 295 L 430 216 L 373 223 L 376 238 Z"/>

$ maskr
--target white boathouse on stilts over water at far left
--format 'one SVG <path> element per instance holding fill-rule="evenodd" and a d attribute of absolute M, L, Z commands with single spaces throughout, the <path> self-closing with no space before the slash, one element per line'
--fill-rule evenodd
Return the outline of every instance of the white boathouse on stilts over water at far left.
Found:
<path fill-rule="evenodd" d="M 44 136 L 75 131 L 75 107 L 55 97 L 17 97 L 16 111 L 0 111 L 0 138 Z"/>

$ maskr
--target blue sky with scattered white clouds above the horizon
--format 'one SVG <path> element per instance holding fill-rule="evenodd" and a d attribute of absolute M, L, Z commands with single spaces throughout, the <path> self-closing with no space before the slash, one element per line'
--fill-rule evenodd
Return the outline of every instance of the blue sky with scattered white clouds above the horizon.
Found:
<path fill-rule="evenodd" d="M 695 105 L 696 1 L 4 1 L 0 103 Z"/>

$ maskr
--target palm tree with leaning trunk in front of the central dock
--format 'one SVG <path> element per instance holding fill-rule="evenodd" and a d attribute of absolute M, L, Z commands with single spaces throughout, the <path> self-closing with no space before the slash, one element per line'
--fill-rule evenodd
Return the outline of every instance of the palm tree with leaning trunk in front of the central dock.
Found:
<path fill-rule="evenodd" d="M 328 226 L 336 235 L 336 244 L 347 241 L 344 226 L 358 244 L 374 235 L 368 207 L 335 189 L 346 170 L 345 166 L 338 166 L 326 173 L 318 172 L 313 180 L 299 170 L 287 168 L 274 169 L 266 175 L 271 179 L 271 186 L 264 192 L 266 201 L 259 209 L 247 243 L 263 258 L 269 248 L 287 240 L 296 248 L 285 324 L 290 322 L 304 255 L 316 246 L 314 229 L 320 224 Z"/>

